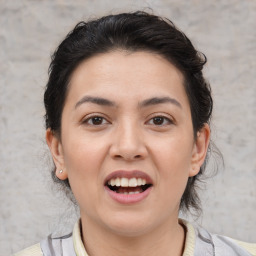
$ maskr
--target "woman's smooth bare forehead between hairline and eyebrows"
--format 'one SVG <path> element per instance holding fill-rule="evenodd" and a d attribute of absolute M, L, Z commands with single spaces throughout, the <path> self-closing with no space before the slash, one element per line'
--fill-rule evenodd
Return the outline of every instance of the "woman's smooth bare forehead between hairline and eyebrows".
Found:
<path fill-rule="evenodd" d="M 187 104 L 183 81 L 182 73 L 158 54 L 113 51 L 85 60 L 75 69 L 66 103 L 95 94 L 131 101 L 170 96 Z"/>

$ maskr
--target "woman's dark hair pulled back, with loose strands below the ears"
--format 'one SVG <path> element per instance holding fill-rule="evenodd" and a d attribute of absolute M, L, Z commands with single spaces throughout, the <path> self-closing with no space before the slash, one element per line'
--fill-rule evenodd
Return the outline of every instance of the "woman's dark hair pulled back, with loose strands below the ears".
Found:
<path fill-rule="evenodd" d="M 206 57 L 170 20 L 138 11 L 78 23 L 52 55 L 44 104 L 46 128 L 50 128 L 55 136 L 61 137 L 62 110 L 73 71 L 82 61 L 116 49 L 152 52 L 170 61 L 184 75 L 194 136 L 205 123 L 210 122 L 213 107 L 211 90 L 202 74 Z M 196 176 L 188 178 L 180 209 L 200 210 L 196 182 L 205 172 L 206 161 Z M 55 170 L 52 177 L 70 189 L 68 180 L 56 178 Z"/>

